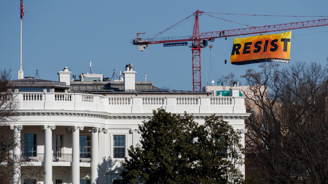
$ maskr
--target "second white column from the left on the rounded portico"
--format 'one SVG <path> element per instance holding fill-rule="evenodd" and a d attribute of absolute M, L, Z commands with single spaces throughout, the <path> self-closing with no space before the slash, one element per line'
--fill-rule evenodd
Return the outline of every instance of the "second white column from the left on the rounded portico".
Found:
<path fill-rule="evenodd" d="M 44 130 L 44 182 L 52 183 L 52 130 L 56 126 L 42 126 Z"/>

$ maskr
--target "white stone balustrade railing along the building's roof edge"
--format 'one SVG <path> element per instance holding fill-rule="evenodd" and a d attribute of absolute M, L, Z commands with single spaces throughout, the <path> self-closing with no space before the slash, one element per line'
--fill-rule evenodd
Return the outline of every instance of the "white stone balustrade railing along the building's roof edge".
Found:
<path fill-rule="evenodd" d="M 245 113 L 244 97 L 103 96 L 81 93 L 16 93 L 19 110 L 75 110 L 107 113 Z"/>

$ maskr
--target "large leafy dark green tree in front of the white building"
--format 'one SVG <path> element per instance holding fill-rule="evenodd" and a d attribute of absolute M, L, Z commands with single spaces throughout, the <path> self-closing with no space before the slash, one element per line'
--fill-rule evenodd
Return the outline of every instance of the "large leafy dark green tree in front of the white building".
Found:
<path fill-rule="evenodd" d="M 192 115 L 163 108 L 139 125 L 140 144 L 131 146 L 120 175 L 127 183 L 242 183 L 240 135 L 215 115 L 204 125 Z"/>

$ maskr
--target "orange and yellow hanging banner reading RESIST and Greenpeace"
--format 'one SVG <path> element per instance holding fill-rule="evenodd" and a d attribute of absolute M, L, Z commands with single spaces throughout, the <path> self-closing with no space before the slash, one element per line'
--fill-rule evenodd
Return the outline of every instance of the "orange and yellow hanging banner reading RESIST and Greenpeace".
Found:
<path fill-rule="evenodd" d="M 292 32 L 235 38 L 231 64 L 289 63 Z"/>

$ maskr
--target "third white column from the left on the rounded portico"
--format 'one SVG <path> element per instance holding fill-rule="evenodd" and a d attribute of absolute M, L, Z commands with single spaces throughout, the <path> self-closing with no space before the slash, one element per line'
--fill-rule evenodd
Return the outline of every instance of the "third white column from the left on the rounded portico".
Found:
<path fill-rule="evenodd" d="M 73 146 L 72 146 L 72 184 L 80 183 L 80 130 L 82 126 L 71 126 L 68 130 L 72 130 Z"/>

